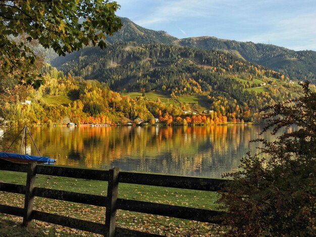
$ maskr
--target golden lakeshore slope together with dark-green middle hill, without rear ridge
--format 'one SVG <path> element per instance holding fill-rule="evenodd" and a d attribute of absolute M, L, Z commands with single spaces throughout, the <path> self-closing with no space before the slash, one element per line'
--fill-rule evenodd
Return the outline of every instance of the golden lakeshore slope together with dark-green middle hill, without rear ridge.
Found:
<path fill-rule="evenodd" d="M 168 125 L 259 122 L 258 108 L 302 92 L 284 75 L 230 54 L 166 44 L 120 43 L 99 52 L 86 48 L 64 66 L 73 74 L 93 74 L 103 81 L 65 76 L 47 65 L 41 69 L 45 83 L 38 90 L 20 86 L 15 93 L 0 95 L 4 121 L 11 125 L 130 124 L 139 119 Z M 121 93 L 111 90 L 110 84 Z"/>

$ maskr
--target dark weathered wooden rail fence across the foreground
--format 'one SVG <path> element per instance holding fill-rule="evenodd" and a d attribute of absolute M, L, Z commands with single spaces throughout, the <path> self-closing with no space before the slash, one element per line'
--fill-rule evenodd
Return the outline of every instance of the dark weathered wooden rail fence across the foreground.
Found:
<path fill-rule="evenodd" d="M 0 191 L 25 195 L 24 208 L 3 205 L 0 201 L 0 213 L 21 216 L 23 217 L 24 225 L 28 225 L 30 221 L 34 219 L 111 237 L 159 236 L 156 234 L 116 227 L 115 217 L 117 209 L 208 223 L 220 224 L 223 221 L 224 213 L 219 211 L 120 199 L 118 198 L 118 184 L 121 182 L 215 192 L 218 191 L 220 186 L 223 185 L 224 182 L 227 182 L 227 180 L 120 172 L 118 168 L 110 170 L 91 170 L 37 165 L 36 163 L 0 163 L 0 170 L 27 173 L 26 185 L 0 182 Z M 36 174 L 108 181 L 107 197 L 35 187 Z M 105 222 L 104 224 L 101 224 L 33 210 L 34 197 L 106 207 Z"/>

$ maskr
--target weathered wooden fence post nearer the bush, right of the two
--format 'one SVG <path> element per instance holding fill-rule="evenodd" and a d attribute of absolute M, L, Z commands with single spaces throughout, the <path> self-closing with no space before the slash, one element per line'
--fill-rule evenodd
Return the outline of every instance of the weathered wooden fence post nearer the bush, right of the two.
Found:
<path fill-rule="evenodd" d="M 110 177 L 108 182 L 108 203 L 106 209 L 106 237 L 113 237 L 115 235 L 115 218 L 116 207 L 118 199 L 119 187 L 119 168 L 109 170 Z"/>

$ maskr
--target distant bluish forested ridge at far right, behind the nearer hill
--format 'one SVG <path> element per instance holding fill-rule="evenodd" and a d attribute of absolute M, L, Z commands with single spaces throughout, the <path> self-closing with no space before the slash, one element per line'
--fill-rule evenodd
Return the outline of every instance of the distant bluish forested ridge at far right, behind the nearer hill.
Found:
<path fill-rule="evenodd" d="M 293 51 L 272 44 L 238 42 L 206 36 L 178 39 L 174 43 L 190 48 L 227 50 L 249 62 L 284 73 L 291 79 L 316 82 L 316 52 L 314 51 Z"/>

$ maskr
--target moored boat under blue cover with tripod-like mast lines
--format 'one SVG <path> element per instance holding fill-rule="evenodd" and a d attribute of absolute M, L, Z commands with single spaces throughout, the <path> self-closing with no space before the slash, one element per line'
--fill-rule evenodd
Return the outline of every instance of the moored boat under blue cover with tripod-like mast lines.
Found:
<path fill-rule="evenodd" d="M 18 139 L 18 137 L 20 136 L 20 134 L 23 131 L 23 136 L 22 136 L 22 142 L 21 142 L 21 148 L 20 148 L 20 154 L 17 153 L 9 153 L 8 150 L 11 148 L 11 146 L 15 143 L 15 141 Z M 26 134 L 29 134 L 29 136 L 31 137 L 33 144 L 35 145 L 35 148 L 38 152 L 39 156 L 33 156 L 33 155 L 28 155 L 26 154 Z M 25 138 L 25 154 L 22 154 L 22 148 L 23 148 L 23 141 Z M 2 162 L 14 162 L 14 163 L 31 163 L 31 162 L 36 162 L 38 164 L 54 164 L 56 162 L 56 159 L 52 159 L 52 158 L 48 158 L 46 156 L 41 156 L 35 141 L 30 133 L 30 131 L 28 130 L 27 126 L 24 126 L 24 128 L 19 132 L 19 134 L 17 135 L 17 137 L 14 139 L 14 141 L 12 142 L 12 144 L 10 145 L 10 147 L 7 149 L 6 152 L 0 152 L 0 161 Z"/>

